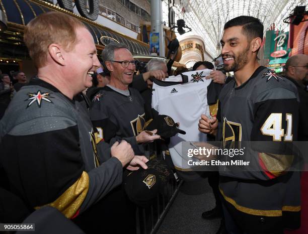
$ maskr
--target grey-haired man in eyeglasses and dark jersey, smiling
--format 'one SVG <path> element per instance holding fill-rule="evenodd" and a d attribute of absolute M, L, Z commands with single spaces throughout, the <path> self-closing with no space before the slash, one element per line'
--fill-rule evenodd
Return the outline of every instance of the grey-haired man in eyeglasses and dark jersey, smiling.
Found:
<path fill-rule="evenodd" d="M 144 101 L 140 93 L 129 88 L 133 80 L 135 63 L 132 54 L 121 43 L 111 43 L 102 52 L 102 59 L 110 71 L 110 82 L 94 95 L 90 116 L 94 127 L 107 143 L 128 141 L 136 154 L 144 153 L 142 143 L 152 142 L 160 136 L 146 133 Z"/>

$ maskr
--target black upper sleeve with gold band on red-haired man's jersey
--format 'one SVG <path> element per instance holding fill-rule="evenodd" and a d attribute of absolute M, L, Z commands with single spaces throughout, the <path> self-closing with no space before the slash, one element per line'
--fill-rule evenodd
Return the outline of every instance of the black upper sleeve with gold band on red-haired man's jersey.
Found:
<path fill-rule="evenodd" d="M 36 131 L 46 123 L 58 129 Z M 1 163 L 12 192 L 27 201 L 29 207 L 50 203 L 57 207 L 60 202 L 60 211 L 70 217 L 81 206 L 88 192 L 89 178 L 76 123 L 64 117 L 22 123 L 3 137 L 1 152 Z M 68 192 L 81 181 L 84 183 L 78 191 Z"/>

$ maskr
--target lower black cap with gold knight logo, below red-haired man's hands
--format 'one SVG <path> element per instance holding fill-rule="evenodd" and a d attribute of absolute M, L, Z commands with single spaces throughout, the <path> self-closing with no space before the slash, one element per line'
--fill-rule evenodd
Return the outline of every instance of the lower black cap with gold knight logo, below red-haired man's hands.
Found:
<path fill-rule="evenodd" d="M 152 159 L 146 163 L 147 169 L 124 173 L 123 185 L 128 198 L 136 205 L 150 205 L 158 194 L 165 194 L 167 184 L 172 183 L 174 175 L 166 163 Z M 166 195 L 166 194 L 165 194 Z"/>

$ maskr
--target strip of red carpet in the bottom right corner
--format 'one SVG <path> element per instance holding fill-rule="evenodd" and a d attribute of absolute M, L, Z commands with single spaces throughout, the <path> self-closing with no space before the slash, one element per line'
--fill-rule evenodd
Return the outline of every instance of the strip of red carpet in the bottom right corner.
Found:
<path fill-rule="evenodd" d="M 301 174 L 301 226 L 294 231 L 284 231 L 285 234 L 308 234 L 308 171 Z"/>

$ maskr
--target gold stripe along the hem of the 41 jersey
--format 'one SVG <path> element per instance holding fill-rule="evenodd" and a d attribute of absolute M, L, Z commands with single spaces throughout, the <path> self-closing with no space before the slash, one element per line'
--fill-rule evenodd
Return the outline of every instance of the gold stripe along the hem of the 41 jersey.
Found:
<path fill-rule="evenodd" d="M 263 216 L 270 216 L 270 217 L 277 217 L 282 216 L 282 211 L 300 211 L 300 206 L 282 206 L 281 210 L 261 210 L 261 209 L 251 209 L 245 206 L 239 205 L 235 200 L 230 197 L 224 195 L 223 191 L 219 188 L 220 193 L 222 194 L 223 198 L 231 203 L 237 210 L 240 210 L 244 213 L 252 214 L 252 215 L 263 215 Z"/>

